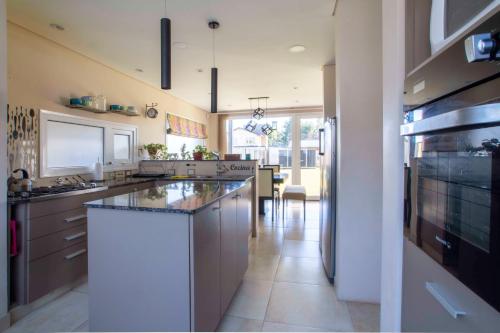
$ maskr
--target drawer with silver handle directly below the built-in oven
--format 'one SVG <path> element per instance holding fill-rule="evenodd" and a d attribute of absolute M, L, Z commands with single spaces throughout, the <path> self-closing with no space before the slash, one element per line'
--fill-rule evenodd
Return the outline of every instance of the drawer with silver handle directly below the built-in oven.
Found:
<path fill-rule="evenodd" d="M 452 310 L 465 315 L 454 318 Z M 405 239 L 401 324 L 404 332 L 494 332 L 500 327 L 500 316 Z"/>

